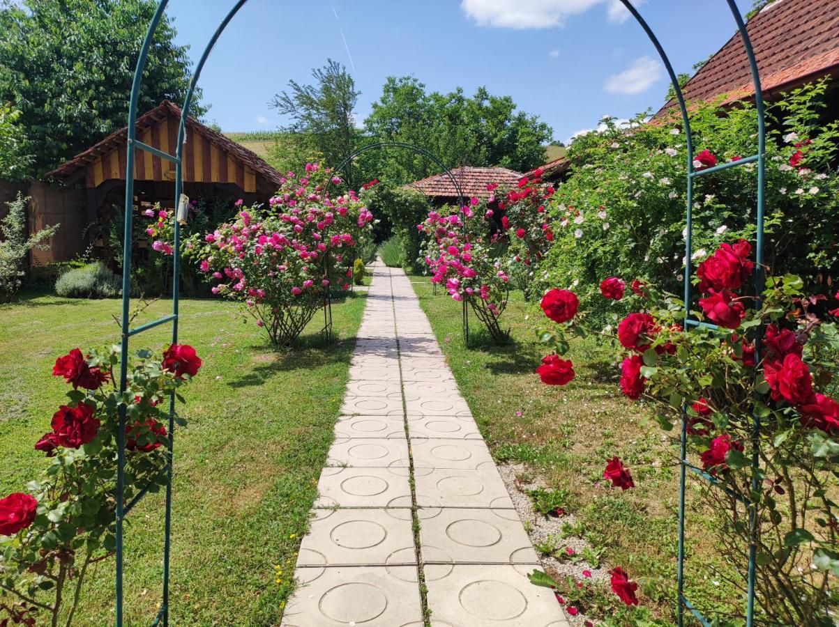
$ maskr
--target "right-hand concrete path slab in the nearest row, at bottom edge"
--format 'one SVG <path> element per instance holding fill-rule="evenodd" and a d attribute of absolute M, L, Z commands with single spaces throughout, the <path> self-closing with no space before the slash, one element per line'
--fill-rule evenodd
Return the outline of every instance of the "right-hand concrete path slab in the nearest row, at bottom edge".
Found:
<path fill-rule="evenodd" d="M 440 572 L 449 573 L 438 577 Z M 530 567 L 533 570 L 533 567 Z M 500 564 L 425 567 L 432 624 L 567 627 L 549 588 L 534 586 L 527 568 Z"/>

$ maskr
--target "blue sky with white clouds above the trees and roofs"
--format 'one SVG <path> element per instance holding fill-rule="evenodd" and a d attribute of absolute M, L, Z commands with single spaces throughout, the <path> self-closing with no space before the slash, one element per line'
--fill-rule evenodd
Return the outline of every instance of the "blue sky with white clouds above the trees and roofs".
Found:
<path fill-rule="evenodd" d="M 171 0 L 178 43 L 201 54 L 232 0 Z M 658 56 L 617 0 L 250 0 L 201 76 L 208 119 L 231 131 L 273 130 L 268 107 L 289 79 L 332 58 L 362 91 L 363 119 L 388 75 L 430 90 L 480 85 L 513 96 L 566 141 L 605 114 L 657 109 L 667 89 Z M 737 0 L 744 12 L 752 0 Z M 735 25 L 724 0 L 636 0 L 677 72 L 725 44 Z M 627 19 L 628 18 L 628 19 Z M 345 44 L 346 41 L 346 44 Z"/>

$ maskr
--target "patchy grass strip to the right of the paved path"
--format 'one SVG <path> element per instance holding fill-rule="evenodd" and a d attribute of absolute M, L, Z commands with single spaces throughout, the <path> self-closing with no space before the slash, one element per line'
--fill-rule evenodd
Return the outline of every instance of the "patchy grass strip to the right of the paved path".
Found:
<path fill-rule="evenodd" d="M 551 492 L 535 495 L 534 505 L 569 511 L 576 518 L 570 531 L 588 542 L 592 559 L 623 567 L 641 584 L 642 611 L 670 624 L 675 614 L 678 448 L 654 422 L 651 407 L 621 395 L 612 351 L 592 339 L 577 339 L 570 355 L 576 379 L 567 386 L 545 386 L 534 374 L 545 355 L 534 333 L 542 320 L 538 306 L 525 303 L 521 293 L 511 295 L 503 325 L 509 326 L 513 343 L 503 346 L 489 345 L 472 316 L 470 350 L 461 334 L 461 304 L 442 290 L 433 295 L 427 277 L 412 277 L 412 282 L 493 456 L 526 464 L 544 479 Z M 603 469 L 615 455 L 631 469 L 633 490 L 604 485 Z M 692 511 L 685 593 L 708 614 L 738 608 L 740 595 L 715 573 L 715 568 L 731 571 L 712 539 L 717 529 L 711 517 L 696 511 L 694 487 L 688 494 Z M 600 598 L 587 599 L 589 618 L 610 618 L 614 602 L 607 588 Z"/>

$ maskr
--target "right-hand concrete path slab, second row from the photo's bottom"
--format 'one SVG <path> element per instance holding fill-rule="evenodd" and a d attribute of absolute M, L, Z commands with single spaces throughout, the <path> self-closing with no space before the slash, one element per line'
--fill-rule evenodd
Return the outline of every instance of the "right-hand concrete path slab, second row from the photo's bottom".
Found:
<path fill-rule="evenodd" d="M 419 510 L 420 544 L 435 547 L 423 562 L 461 564 L 534 564 L 539 557 L 530 544 L 516 510 L 450 507 Z"/>

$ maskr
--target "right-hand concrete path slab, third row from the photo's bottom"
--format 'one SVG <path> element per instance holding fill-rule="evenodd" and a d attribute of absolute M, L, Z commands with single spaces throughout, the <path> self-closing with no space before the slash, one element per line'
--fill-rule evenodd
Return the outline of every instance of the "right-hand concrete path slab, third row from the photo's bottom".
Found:
<path fill-rule="evenodd" d="M 420 507 L 483 507 L 512 509 L 498 470 L 432 470 L 414 474 Z"/>

